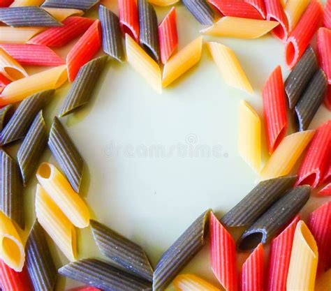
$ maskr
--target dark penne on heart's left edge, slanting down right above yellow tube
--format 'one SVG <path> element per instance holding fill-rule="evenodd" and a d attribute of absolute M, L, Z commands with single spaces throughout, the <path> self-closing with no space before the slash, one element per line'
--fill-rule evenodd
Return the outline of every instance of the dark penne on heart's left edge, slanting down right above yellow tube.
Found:
<path fill-rule="evenodd" d="M 50 129 L 48 147 L 64 174 L 66 174 L 71 186 L 73 186 L 73 190 L 78 193 L 80 191 L 80 182 L 82 181 L 84 161 L 57 117 L 54 117 L 52 128 Z"/>

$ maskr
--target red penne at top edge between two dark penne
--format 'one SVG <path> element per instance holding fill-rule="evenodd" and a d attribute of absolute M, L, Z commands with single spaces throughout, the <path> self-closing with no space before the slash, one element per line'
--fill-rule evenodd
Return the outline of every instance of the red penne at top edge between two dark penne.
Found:
<path fill-rule="evenodd" d="M 137 43 L 139 43 L 139 17 L 138 7 L 135 0 L 118 0 L 119 5 L 119 25 L 122 32 L 128 33 Z"/>

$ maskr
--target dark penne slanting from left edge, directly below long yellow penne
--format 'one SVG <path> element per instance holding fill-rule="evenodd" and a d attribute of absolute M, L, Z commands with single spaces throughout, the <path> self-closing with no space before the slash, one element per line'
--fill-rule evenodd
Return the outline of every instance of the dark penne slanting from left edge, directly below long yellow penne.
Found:
<path fill-rule="evenodd" d="M 46 104 L 47 98 L 50 98 L 53 94 L 54 90 L 47 90 L 24 99 L 1 131 L 1 144 L 8 144 L 24 137 L 36 114 Z"/>

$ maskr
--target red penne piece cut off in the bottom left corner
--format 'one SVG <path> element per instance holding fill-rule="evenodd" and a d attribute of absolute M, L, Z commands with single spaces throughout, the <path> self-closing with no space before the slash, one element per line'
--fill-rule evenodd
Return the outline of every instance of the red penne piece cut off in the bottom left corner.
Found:
<path fill-rule="evenodd" d="M 27 268 L 20 273 L 0 260 L 0 288 L 3 291 L 33 291 Z"/>

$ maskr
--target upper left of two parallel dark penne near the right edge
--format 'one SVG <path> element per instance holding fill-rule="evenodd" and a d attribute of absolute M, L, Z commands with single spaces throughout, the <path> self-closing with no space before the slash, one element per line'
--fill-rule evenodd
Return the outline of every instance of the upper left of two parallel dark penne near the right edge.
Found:
<path fill-rule="evenodd" d="M 317 69 L 318 63 L 316 54 L 309 45 L 285 81 L 285 91 L 290 109 L 295 107 L 297 100 L 300 99 L 300 96 Z"/>

